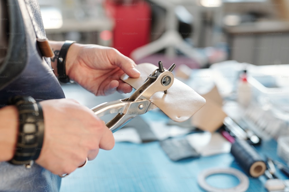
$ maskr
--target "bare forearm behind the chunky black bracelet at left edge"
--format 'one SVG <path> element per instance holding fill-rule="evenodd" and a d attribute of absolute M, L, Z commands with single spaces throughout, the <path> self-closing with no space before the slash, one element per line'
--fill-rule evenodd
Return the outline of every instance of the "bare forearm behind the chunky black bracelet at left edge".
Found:
<path fill-rule="evenodd" d="M 12 159 L 18 133 L 18 111 L 14 106 L 0 109 L 0 161 Z"/>

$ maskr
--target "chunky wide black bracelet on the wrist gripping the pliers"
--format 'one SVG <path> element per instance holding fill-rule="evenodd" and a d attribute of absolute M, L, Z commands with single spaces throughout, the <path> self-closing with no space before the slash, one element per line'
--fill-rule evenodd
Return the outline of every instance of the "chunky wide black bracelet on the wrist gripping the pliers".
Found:
<path fill-rule="evenodd" d="M 44 118 L 42 108 L 31 96 L 15 96 L 9 104 L 17 107 L 19 131 L 13 158 L 9 163 L 31 168 L 38 159 L 44 138 Z"/>

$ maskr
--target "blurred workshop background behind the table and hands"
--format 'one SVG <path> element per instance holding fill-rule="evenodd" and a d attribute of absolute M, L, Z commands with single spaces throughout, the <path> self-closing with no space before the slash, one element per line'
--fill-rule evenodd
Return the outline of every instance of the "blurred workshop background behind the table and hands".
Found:
<path fill-rule="evenodd" d="M 137 63 L 287 64 L 286 0 L 39 0 L 47 37 L 111 46 Z"/>

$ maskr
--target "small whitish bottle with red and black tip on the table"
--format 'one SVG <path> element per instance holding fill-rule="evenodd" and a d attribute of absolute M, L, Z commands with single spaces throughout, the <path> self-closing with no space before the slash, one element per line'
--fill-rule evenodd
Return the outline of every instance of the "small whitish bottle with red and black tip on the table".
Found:
<path fill-rule="evenodd" d="M 247 81 L 247 70 L 244 70 L 240 75 L 237 90 L 237 101 L 243 107 L 248 107 L 251 101 L 251 85 Z"/>

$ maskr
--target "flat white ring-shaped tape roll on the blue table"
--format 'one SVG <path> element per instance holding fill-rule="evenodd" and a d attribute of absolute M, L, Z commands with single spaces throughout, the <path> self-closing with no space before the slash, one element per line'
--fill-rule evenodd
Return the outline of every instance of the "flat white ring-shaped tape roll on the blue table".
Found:
<path fill-rule="evenodd" d="M 239 179 L 240 183 L 236 187 L 225 189 L 213 187 L 206 182 L 206 178 L 214 174 L 233 175 Z M 198 175 L 198 184 L 201 188 L 203 188 L 208 192 L 223 192 L 223 191 L 244 192 L 249 187 L 249 179 L 244 173 L 234 168 L 211 168 L 204 170 Z"/>

